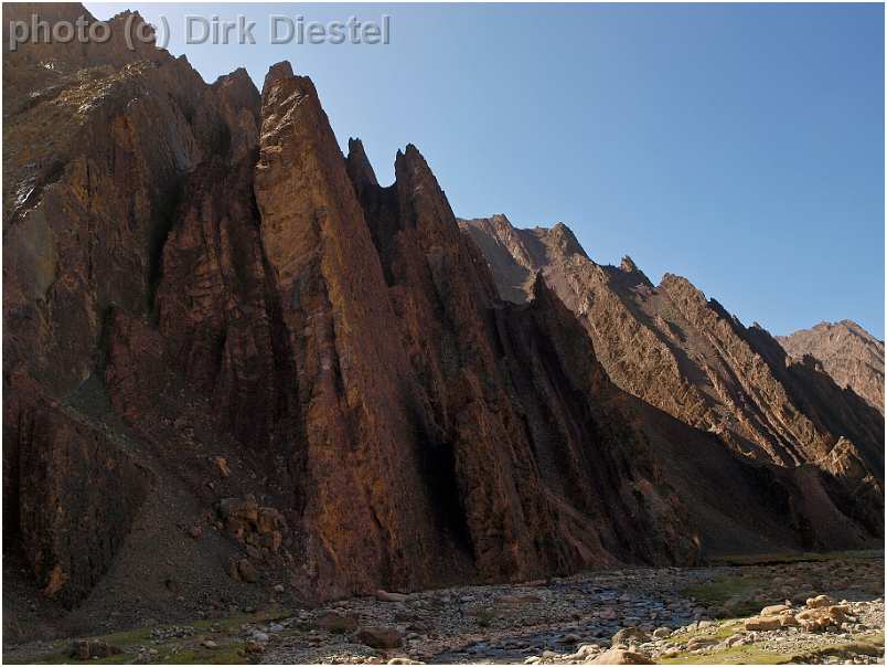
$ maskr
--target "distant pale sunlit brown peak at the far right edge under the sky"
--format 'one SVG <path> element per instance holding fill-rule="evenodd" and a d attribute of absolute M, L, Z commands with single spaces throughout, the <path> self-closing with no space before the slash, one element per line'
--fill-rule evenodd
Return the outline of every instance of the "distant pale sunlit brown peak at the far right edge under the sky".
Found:
<path fill-rule="evenodd" d="M 848 387 L 884 414 L 884 341 L 856 322 L 820 322 L 790 336 L 778 336 L 786 351 L 798 359 L 819 359 L 838 387 Z"/>

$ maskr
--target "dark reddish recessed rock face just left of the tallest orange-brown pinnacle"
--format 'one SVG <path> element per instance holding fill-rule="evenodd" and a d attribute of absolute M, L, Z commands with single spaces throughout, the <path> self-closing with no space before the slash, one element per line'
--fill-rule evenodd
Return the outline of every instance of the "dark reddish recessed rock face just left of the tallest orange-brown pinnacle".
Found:
<path fill-rule="evenodd" d="M 163 247 L 160 331 L 238 440 L 266 444 L 289 414 L 291 374 L 253 201 L 256 152 L 202 166 Z"/>

